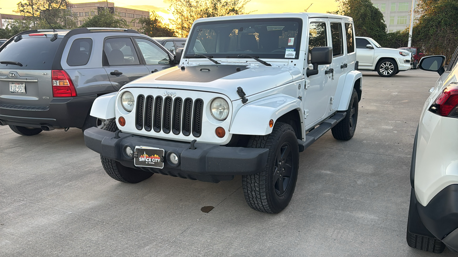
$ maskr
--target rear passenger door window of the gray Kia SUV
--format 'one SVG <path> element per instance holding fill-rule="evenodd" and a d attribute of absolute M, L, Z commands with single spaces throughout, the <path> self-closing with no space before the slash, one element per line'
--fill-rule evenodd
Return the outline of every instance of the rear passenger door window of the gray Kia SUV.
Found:
<path fill-rule="evenodd" d="M 140 64 L 129 37 L 114 37 L 105 40 L 104 54 L 109 66 Z"/>

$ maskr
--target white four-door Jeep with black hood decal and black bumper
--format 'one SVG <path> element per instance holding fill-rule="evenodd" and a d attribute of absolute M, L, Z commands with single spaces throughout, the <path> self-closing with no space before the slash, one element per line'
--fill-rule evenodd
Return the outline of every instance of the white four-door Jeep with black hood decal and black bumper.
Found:
<path fill-rule="evenodd" d="M 329 130 L 336 139 L 353 137 L 362 75 L 350 17 L 198 19 L 175 58 L 179 66 L 95 100 L 91 115 L 114 119 L 105 130 L 87 129 L 84 139 L 110 177 L 219 182 L 242 175 L 248 205 L 278 213 L 294 193 L 299 152 Z"/>

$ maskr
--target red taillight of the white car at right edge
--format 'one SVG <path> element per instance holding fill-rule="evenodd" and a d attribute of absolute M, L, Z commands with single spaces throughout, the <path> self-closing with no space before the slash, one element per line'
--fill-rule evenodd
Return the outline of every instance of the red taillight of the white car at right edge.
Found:
<path fill-rule="evenodd" d="M 458 83 L 450 83 L 437 97 L 430 110 L 442 116 L 458 118 Z"/>

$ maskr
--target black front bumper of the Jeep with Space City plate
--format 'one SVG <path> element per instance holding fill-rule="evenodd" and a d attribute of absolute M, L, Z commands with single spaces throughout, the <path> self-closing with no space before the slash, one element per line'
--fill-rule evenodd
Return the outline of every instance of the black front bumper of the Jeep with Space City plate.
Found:
<path fill-rule="evenodd" d="M 115 138 L 114 132 L 98 128 L 86 129 L 84 141 L 91 150 L 105 158 L 119 161 L 123 166 L 206 182 L 231 180 L 235 175 L 259 173 L 266 166 L 269 152 L 263 148 L 227 147 L 199 142 L 195 143 L 195 149 L 190 149 L 189 143 L 126 133 L 119 133 L 119 138 Z M 134 166 L 133 158 L 125 154 L 126 146 L 131 149 L 136 146 L 164 149 L 165 156 L 174 152 L 180 161 L 177 166 L 173 166 L 165 160 L 163 169 L 137 167 Z"/>

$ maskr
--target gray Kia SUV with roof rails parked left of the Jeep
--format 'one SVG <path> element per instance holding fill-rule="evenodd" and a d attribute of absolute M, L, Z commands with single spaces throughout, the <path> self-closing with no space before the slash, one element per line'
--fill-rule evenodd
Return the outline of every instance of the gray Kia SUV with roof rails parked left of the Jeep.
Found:
<path fill-rule="evenodd" d="M 104 127 L 95 98 L 175 65 L 174 55 L 131 29 L 26 31 L 0 46 L 0 125 L 21 135 Z"/>

